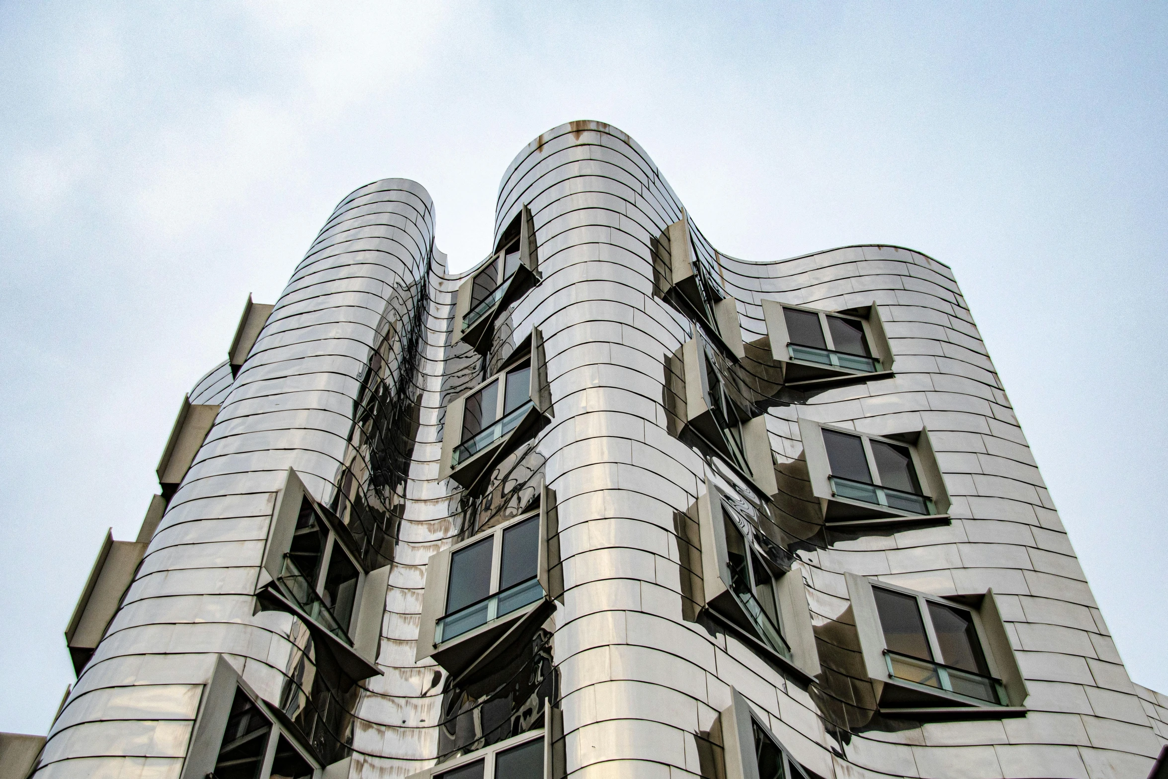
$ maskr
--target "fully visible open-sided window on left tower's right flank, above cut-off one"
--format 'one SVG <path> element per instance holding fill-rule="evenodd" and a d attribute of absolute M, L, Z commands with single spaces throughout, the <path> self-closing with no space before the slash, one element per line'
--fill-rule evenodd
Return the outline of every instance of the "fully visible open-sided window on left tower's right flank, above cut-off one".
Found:
<path fill-rule="evenodd" d="M 364 570 L 348 528 L 290 468 L 269 526 L 256 594 L 264 607 L 305 619 L 354 680 L 381 673 L 374 661 L 389 569 Z"/>

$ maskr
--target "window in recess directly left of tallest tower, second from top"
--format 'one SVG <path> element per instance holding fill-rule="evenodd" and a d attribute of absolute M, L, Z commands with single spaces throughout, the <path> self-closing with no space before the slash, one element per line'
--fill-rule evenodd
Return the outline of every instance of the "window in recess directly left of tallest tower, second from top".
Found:
<path fill-rule="evenodd" d="M 543 338 L 533 328 L 499 374 L 447 405 L 439 477 L 472 486 L 541 413 L 554 412 Z"/>

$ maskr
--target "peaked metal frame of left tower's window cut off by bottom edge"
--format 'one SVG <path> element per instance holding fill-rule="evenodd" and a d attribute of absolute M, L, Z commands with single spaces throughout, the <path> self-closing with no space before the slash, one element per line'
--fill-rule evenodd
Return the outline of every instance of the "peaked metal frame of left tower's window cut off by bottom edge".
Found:
<path fill-rule="evenodd" d="M 284 736 L 300 757 L 312 766 L 313 779 L 324 779 L 329 766 L 325 766 L 315 752 L 300 742 L 299 736 L 286 726 L 285 718 L 277 714 L 278 710 L 256 693 L 222 654 L 216 655 L 210 679 L 203 683 L 199 712 L 195 715 L 180 779 L 204 779 L 214 772 L 236 690 L 246 695 L 271 724 L 271 731 L 265 737 L 264 761 L 259 779 L 267 779 L 271 775 L 272 759 L 280 736 Z M 347 759 L 338 760 L 338 763 Z"/>

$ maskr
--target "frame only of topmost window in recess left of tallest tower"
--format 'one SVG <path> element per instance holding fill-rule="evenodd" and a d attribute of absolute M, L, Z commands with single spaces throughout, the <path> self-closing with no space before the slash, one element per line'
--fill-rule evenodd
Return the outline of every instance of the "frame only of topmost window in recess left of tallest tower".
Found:
<path fill-rule="evenodd" d="M 516 222 L 517 237 L 510 237 L 515 232 Z M 475 279 L 482 273 L 488 272 L 494 263 L 505 263 L 507 249 L 516 239 L 519 241 L 519 265 L 510 276 L 495 285 L 491 293 L 495 297 L 495 301 L 487 306 L 474 320 L 466 324 L 466 318 L 473 313 L 471 311 L 471 298 Z M 508 228 L 503 230 L 495 250 L 482 262 L 482 266 L 468 276 L 458 287 L 458 293 L 454 298 L 454 342 L 466 342 L 480 354 L 486 354 L 491 346 L 494 334 L 494 322 L 499 312 L 506 309 L 524 292 L 540 284 L 542 276 L 540 274 L 538 266 L 535 221 L 528 204 L 523 203 L 520 207 L 519 214 L 515 215 Z M 500 265 L 500 267 L 506 271 L 505 265 Z"/>

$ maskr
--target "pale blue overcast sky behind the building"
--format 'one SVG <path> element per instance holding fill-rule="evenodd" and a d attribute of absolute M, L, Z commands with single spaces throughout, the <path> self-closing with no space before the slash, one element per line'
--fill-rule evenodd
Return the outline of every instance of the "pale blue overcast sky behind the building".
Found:
<path fill-rule="evenodd" d="M 102 537 L 137 534 L 248 293 L 385 176 L 468 266 L 506 166 L 571 119 L 640 141 L 725 253 L 951 265 L 1168 691 L 1166 41 L 1153 2 L 0 2 L 0 730 L 48 729 Z"/>

